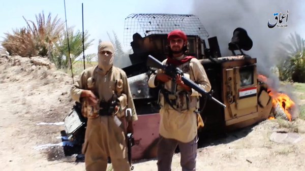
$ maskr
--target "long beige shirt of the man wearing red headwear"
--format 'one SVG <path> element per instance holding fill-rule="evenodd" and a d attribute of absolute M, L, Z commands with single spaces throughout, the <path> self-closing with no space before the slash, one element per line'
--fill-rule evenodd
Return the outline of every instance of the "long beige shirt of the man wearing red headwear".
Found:
<path fill-rule="evenodd" d="M 166 63 L 165 59 L 162 63 Z M 189 65 L 189 66 L 188 66 Z M 179 67 L 191 80 L 198 83 L 200 87 L 205 89 L 207 92 L 210 91 L 211 85 L 206 76 L 203 65 L 197 58 L 192 58 L 190 62 L 186 62 Z M 157 70 L 156 74 L 163 73 L 162 70 Z M 155 88 L 156 74 L 152 74 L 148 80 L 148 86 Z M 165 89 L 170 91 L 171 81 L 165 83 Z M 177 85 L 177 90 L 182 88 Z M 200 94 L 192 89 L 191 96 L 199 96 Z M 175 139 L 180 142 L 188 143 L 194 140 L 197 135 L 197 119 L 194 113 L 194 109 L 186 110 L 184 112 L 178 112 L 174 110 L 170 105 L 166 104 L 160 109 L 160 134 L 168 139 Z"/>

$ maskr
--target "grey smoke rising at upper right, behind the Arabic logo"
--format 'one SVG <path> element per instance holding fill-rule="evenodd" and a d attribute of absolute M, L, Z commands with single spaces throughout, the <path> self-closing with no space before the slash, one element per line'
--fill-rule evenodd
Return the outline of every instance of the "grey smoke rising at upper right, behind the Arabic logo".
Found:
<path fill-rule="evenodd" d="M 294 2 L 294 3 L 293 3 Z M 299 3 L 296 3 L 299 2 Z M 217 36 L 222 56 L 232 53 L 228 50 L 233 31 L 237 27 L 247 30 L 253 47 L 245 54 L 257 58 L 258 71 L 269 76 L 270 67 L 278 61 L 275 51 L 289 33 L 300 29 L 302 18 L 301 1 L 201 1 L 194 0 L 193 14 L 197 15 L 209 33 Z M 275 23 L 273 13 L 288 13 L 287 28 L 268 28 L 267 23 Z M 283 23 L 286 19 L 283 19 Z M 283 24 L 282 23 L 282 24 Z M 239 53 L 236 51 L 236 53 Z"/>

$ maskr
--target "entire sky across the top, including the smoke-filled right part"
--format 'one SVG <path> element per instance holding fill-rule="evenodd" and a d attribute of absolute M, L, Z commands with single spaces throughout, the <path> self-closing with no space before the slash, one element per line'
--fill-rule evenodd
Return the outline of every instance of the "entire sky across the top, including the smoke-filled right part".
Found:
<path fill-rule="evenodd" d="M 107 32 L 112 35 L 114 31 L 123 43 L 125 18 L 132 13 L 198 15 L 209 35 L 218 36 L 223 49 L 227 49 L 227 42 L 230 41 L 233 30 L 239 26 L 248 30 L 254 40 L 254 48 L 277 44 L 279 38 L 285 38 L 294 31 L 305 39 L 303 0 L 66 0 L 68 26 L 75 26 L 79 30 L 82 29 L 81 3 L 84 5 L 84 29 L 89 31 L 90 39 L 94 39 L 93 46 L 86 53 L 96 53 L 99 39 L 109 40 Z M 46 16 L 50 12 L 52 17 L 58 15 L 65 21 L 64 0 L 2 0 L 1 5 L 0 41 L 4 37 L 4 32 L 25 26 L 22 16 L 28 20 L 35 20 L 35 15 L 44 11 Z M 284 13 L 287 10 L 289 10 L 289 28 L 267 28 L 268 19 L 273 17 L 273 12 Z M 260 47 L 268 40 L 273 42 Z"/>

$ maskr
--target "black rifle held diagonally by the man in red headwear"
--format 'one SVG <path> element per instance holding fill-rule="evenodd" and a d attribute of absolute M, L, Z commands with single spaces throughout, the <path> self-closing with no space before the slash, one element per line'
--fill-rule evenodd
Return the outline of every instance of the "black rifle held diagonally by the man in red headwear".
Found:
<path fill-rule="evenodd" d="M 193 88 L 194 90 L 198 91 L 201 95 L 207 96 L 208 98 L 212 99 L 213 101 L 217 102 L 217 104 L 221 105 L 222 107 L 226 108 L 226 105 L 220 102 L 218 99 L 212 97 L 210 93 L 205 91 L 205 89 L 201 88 L 198 84 L 196 84 L 191 79 L 184 77 L 184 73 L 178 67 L 174 65 L 164 65 L 155 57 L 148 55 L 146 65 L 149 67 L 155 67 L 157 69 L 161 69 L 165 71 L 165 74 L 170 76 L 171 78 L 175 79 L 176 75 L 179 74 L 181 76 L 182 81 L 188 85 L 189 87 Z"/>

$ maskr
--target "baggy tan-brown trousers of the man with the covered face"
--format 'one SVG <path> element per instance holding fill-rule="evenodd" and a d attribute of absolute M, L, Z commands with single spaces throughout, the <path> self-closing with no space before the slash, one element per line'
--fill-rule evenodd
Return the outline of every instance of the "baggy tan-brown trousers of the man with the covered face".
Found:
<path fill-rule="evenodd" d="M 124 122 L 117 126 L 112 116 L 88 119 L 82 153 L 87 171 L 105 171 L 108 156 L 115 171 L 130 171 Z"/>

